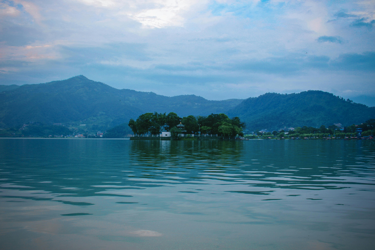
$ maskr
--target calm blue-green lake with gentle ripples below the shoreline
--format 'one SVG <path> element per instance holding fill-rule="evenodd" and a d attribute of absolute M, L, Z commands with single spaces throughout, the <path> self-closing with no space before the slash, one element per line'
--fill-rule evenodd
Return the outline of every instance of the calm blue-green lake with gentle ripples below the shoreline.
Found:
<path fill-rule="evenodd" d="M 0 139 L 2 250 L 373 250 L 375 142 Z"/>

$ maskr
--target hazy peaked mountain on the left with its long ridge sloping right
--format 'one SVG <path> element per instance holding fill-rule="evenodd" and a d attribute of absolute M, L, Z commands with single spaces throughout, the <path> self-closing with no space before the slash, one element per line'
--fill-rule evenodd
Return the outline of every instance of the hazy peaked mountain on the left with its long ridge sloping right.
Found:
<path fill-rule="evenodd" d="M 116 89 L 84 76 L 51 83 L 0 86 L 0 127 L 30 122 L 81 123 L 88 129 L 104 130 L 145 112 L 209 115 L 225 113 L 242 101 L 208 101 L 194 95 L 166 97 Z"/>

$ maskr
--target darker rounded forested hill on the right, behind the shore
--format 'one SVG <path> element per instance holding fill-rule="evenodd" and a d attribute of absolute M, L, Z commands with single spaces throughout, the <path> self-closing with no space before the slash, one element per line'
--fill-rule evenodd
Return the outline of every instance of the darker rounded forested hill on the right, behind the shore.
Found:
<path fill-rule="evenodd" d="M 279 129 L 283 127 L 361 124 L 375 118 L 375 107 L 356 104 L 323 91 L 298 94 L 266 93 L 244 100 L 228 112 L 238 116 L 247 129 Z"/>

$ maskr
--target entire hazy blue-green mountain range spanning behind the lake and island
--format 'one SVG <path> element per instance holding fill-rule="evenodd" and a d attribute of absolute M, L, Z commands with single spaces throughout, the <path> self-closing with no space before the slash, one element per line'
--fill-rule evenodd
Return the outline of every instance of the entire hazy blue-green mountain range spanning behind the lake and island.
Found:
<path fill-rule="evenodd" d="M 146 112 L 238 116 L 248 129 L 361 124 L 375 118 L 375 107 L 355 104 L 323 91 L 267 93 L 246 100 L 208 101 L 195 95 L 166 97 L 152 92 L 116 89 L 84 76 L 29 85 L 0 85 L 0 127 L 30 122 L 82 125 L 106 130 Z M 130 129 L 129 129 L 130 130 Z"/>

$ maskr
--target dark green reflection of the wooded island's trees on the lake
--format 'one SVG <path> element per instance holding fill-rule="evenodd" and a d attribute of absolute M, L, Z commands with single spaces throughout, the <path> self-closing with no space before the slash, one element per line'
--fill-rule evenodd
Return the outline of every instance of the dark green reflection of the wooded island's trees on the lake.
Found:
<path fill-rule="evenodd" d="M 207 169 L 237 169 L 242 142 L 232 141 L 132 141 L 130 162 L 139 177 L 200 178 Z"/>

